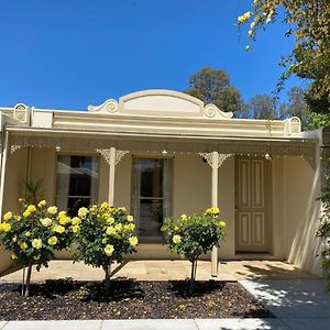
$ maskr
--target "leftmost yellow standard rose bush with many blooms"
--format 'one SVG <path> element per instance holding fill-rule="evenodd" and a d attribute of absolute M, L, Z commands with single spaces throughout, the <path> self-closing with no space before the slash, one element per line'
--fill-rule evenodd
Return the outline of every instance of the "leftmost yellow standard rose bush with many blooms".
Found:
<path fill-rule="evenodd" d="M 48 266 L 54 251 L 70 246 L 77 228 L 65 211 L 57 212 L 56 206 L 47 207 L 45 200 L 38 204 L 25 204 L 19 200 L 21 212 L 7 212 L 0 223 L 0 244 L 11 251 L 12 260 L 28 267 L 26 280 L 22 294 L 29 296 L 32 266 Z"/>

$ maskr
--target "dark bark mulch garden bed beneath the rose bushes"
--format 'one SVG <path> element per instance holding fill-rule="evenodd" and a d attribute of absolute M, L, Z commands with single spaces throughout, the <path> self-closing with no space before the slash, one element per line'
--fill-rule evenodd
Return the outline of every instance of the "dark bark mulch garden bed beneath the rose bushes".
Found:
<path fill-rule="evenodd" d="M 273 317 L 238 283 L 111 280 L 105 284 L 47 280 L 32 284 L 21 297 L 18 284 L 0 285 L 0 320 L 146 319 L 146 318 L 268 318 Z"/>

